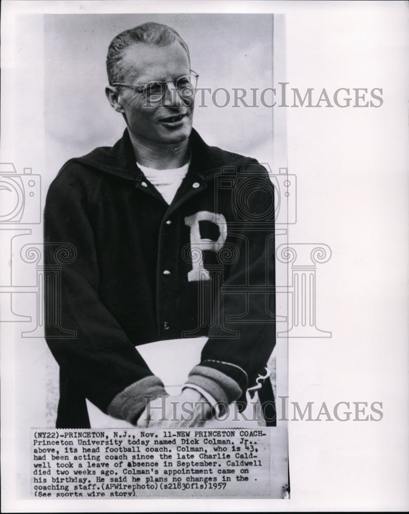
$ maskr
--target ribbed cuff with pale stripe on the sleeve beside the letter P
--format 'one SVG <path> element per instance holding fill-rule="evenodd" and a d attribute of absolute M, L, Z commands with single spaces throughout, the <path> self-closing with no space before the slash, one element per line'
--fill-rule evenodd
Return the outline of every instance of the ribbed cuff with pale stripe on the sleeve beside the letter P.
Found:
<path fill-rule="evenodd" d="M 189 373 L 187 383 L 199 386 L 211 394 L 216 401 L 227 404 L 241 396 L 241 389 L 235 380 L 207 366 L 195 366 Z"/>

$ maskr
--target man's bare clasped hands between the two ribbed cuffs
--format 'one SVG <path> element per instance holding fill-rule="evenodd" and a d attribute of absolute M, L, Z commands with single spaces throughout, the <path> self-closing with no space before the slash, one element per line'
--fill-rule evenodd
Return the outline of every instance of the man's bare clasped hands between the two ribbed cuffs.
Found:
<path fill-rule="evenodd" d="M 139 428 L 200 427 L 210 418 L 212 406 L 195 389 L 185 388 L 176 396 L 150 401 L 138 419 Z"/>

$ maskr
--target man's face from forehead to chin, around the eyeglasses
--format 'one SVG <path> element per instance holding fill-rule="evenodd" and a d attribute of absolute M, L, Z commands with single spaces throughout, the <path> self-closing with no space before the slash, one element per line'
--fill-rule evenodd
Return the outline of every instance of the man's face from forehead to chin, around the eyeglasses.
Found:
<path fill-rule="evenodd" d="M 172 81 L 190 73 L 187 53 L 178 42 L 158 47 L 135 44 L 128 47 L 122 58 L 124 83 Z M 119 101 L 129 131 L 138 139 L 161 144 L 180 143 L 192 130 L 193 96 L 183 102 L 173 83 L 166 86 L 159 101 L 147 101 L 143 93 L 130 88 L 120 89 Z"/>

